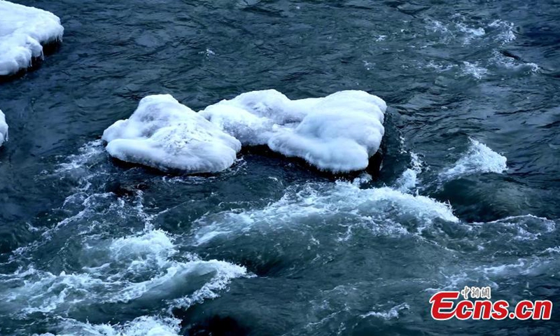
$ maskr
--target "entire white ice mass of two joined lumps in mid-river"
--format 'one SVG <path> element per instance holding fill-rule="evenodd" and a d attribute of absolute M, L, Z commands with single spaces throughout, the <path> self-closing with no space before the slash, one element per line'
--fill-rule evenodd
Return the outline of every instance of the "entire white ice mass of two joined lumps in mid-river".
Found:
<path fill-rule="evenodd" d="M 199 113 L 168 94 L 156 95 L 142 99 L 103 139 L 113 157 L 162 170 L 220 172 L 244 144 L 266 145 L 318 169 L 352 172 L 367 168 L 379 149 L 385 110 L 382 99 L 363 91 L 299 100 L 253 91 Z"/>

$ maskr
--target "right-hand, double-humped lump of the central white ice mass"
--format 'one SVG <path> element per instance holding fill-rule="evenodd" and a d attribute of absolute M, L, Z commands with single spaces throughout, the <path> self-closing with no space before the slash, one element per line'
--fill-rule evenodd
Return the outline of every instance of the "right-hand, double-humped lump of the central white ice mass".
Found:
<path fill-rule="evenodd" d="M 240 94 L 200 113 L 246 145 L 303 158 L 319 169 L 365 169 L 384 134 L 383 99 L 363 91 L 290 100 L 276 90 Z"/>

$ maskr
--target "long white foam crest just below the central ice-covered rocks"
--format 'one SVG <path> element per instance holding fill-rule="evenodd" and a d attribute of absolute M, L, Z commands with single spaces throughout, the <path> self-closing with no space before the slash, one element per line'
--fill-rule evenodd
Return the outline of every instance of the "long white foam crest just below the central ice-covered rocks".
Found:
<path fill-rule="evenodd" d="M 345 218 L 349 225 L 363 225 L 379 235 L 407 232 L 400 221 L 414 221 L 417 230 L 440 219 L 458 223 L 449 204 L 429 197 L 401 193 L 389 187 L 361 189 L 359 183 L 307 183 L 288 188 L 281 200 L 263 209 L 225 211 L 197 220 L 194 239 L 207 244 L 218 237 L 269 232 L 298 225 L 320 228 Z"/>

